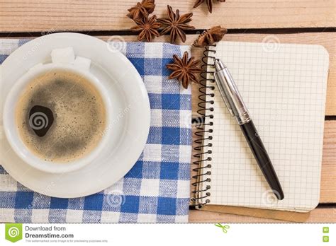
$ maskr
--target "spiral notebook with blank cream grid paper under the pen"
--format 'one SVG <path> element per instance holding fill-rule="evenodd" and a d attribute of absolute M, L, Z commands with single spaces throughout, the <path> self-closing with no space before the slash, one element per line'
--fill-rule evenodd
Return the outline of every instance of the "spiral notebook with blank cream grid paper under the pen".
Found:
<path fill-rule="evenodd" d="M 329 55 L 319 45 L 219 42 L 206 49 L 194 205 L 307 212 L 318 205 Z M 284 189 L 278 201 L 213 81 L 228 66 Z M 205 61 L 206 59 L 203 59 Z M 203 134 L 203 136 L 202 136 Z"/>

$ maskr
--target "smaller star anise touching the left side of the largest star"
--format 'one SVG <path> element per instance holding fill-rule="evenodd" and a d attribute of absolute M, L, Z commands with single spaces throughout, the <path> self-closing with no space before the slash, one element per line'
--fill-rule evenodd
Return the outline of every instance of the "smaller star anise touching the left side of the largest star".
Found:
<path fill-rule="evenodd" d="M 161 26 L 161 24 L 157 22 L 157 16 L 153 15 L 150 18 L 146 16 L 141 20 L 135 20 L 135 23 L 137 23 L 137 25 L 130 28 L 130 30 L 140 32 L 138 35 L 139 41 L 147 40 L 148 42 L 152 42 L 153 36 L 159 37 L 157 29 Z"/>

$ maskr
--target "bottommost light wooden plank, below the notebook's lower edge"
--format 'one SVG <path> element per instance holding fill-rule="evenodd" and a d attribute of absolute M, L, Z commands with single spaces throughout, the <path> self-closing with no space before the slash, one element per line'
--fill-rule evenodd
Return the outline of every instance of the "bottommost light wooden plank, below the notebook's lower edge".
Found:
<path fill-rule="evenodd" d="M 307 213 L 305 223 L 335 223 L 336 206 L 330 208 L 314 209 Z M 189 212 L 189 222 L 191 223 L 289 223 L 288 221 L 275 220 L 271 218 L 257 218 L 252 216 L 241 216 L 228 213 L 215 213 L 208 211 L 191 210 Z"/>

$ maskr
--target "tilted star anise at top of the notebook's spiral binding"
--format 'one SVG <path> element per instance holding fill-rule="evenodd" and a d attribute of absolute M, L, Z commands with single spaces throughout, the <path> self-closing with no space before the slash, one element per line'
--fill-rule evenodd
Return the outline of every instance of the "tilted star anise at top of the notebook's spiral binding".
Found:
<path fill-rule="evenodd" d="M 216 25 L 213 28 L 205 30 L 201 35 L 197 37 L 194 42 L 196 47 L 205 47 L 207 45 L 212 45 L 215 42 L 222 40 L 225 33 L 228 33 L 228 30 L 222 28 L 220 25 Z"/>

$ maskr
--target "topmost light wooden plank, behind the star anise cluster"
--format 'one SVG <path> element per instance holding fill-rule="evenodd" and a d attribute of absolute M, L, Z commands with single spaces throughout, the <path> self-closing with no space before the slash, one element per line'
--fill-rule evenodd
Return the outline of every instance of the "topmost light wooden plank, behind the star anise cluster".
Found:
<path fill-rule="evenodd" d="M 48 30 L 127 30 L 133 22 L 127 9 L 140 0 L 67 1 L 1 0 L 0 32 L 46 32 Z M 155 14 L 166 15 L 167 1 L 155 1 Z M 212 25 L 226 28 L 312 28 L 335 27 L 335 1 L 311 0 L 227 0 L 193 8 L 195 0 L 172 0 L 169 4 L 181 13 L 194 13 L 192 25 L 206 29 Z"/>

